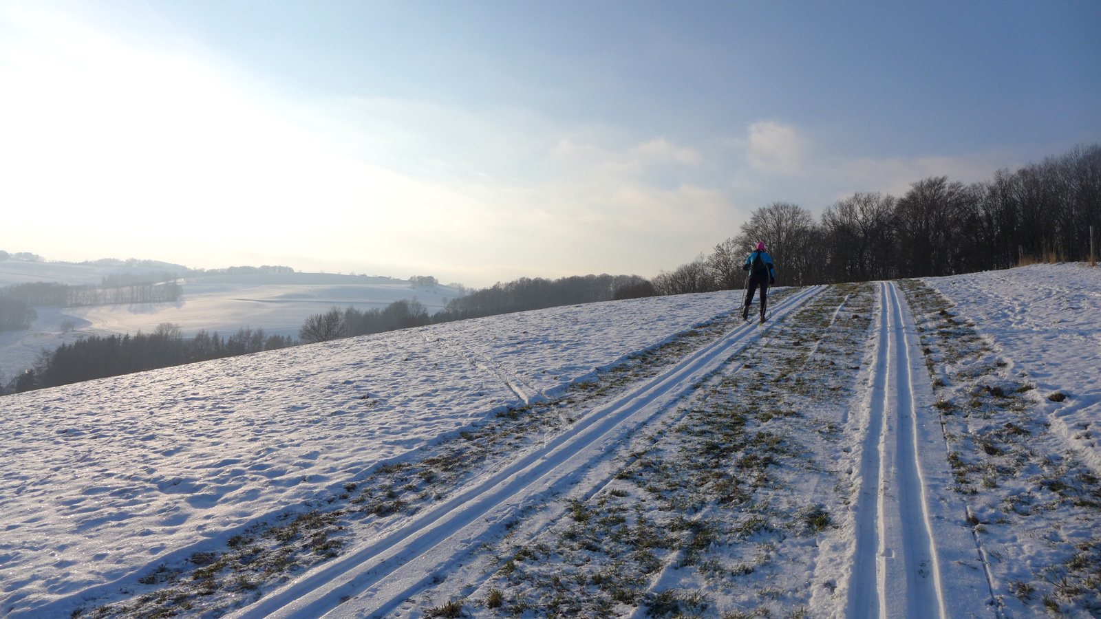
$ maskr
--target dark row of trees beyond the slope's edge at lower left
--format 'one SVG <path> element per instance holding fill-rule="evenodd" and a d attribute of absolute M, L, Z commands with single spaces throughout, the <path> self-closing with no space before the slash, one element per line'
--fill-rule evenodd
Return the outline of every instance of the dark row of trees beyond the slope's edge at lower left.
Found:
<path fill-rule="evenodd" d="M 30 391 L 85 380 L 208 361 L 294 346 L 291 336 L 265 335 L 242 327 L 222 337 L 200 330 L 184 337 L 179 326 L 161 323 L 151 334 L 92 336 L 43 351 L 33 369 L 15 380 L 15 391 Z"/>

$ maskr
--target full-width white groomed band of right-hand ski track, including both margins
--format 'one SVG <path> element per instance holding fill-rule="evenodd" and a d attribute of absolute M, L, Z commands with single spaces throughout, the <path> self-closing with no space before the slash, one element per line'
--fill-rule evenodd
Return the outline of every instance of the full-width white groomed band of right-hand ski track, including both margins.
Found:
<path fill-rule="evenodd" d="M 916 328 L 895 282 L 879 284 L 875 355 L 854 501 L 854 547 L 842 617 L 994 617 L 947 447 L 931 406 Z M 917 370 L 915 371 L 915 362 Z"/>

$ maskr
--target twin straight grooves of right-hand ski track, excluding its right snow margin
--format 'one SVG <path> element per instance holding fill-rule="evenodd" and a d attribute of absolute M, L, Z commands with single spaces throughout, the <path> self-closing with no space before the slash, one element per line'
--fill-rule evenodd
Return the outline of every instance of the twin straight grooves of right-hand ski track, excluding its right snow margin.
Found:
<path fill-rule="evenodd" d="M 940 566 L 918 466 L 917 417 L 904 305 L 880 284 L 872 401 L 861 456 L 857 540 L 846 617 L 946 617 Z"/>

